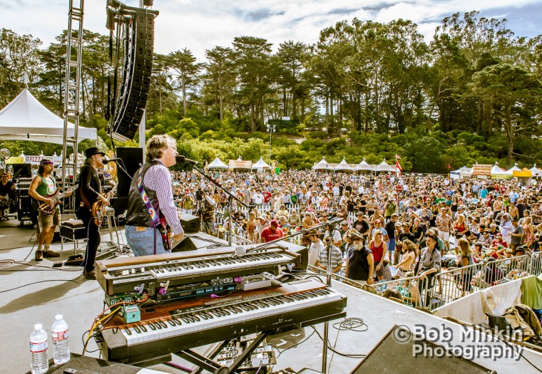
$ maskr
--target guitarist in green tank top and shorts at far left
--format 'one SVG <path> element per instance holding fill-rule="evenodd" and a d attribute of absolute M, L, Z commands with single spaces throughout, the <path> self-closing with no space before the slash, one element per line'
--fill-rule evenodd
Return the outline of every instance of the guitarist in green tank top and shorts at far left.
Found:
<path fill-rule="evenodd" d="M 56 182 L 53 177 L 53 161 L 42 159 L 39 162 L 38 174 L 30 184 L 29 195 L 38 200 L 38 204 L 46 203 L 53 205 L 54 200 L 46 195 L 56 192 Z M 42 261 L 44 257 L 58 257 L 60 254 L 51 251 L 51 241 L 55 229 L 60 224 L 60 207 L 56 207 L 53 214 L 38 213 L 38 248 L 36 249 L 36 261 Z"/>

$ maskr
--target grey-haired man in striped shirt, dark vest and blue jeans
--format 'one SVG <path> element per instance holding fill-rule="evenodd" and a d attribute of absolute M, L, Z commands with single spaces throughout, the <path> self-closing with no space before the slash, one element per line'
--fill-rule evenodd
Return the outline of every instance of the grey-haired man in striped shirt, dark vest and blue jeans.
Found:
<path fill-rule="evenodd" d="M 163 224 L 155 223 L 160 217 L 166 226 L 171 227 L 174 241 L 180 241 L 184 236 L 168 170 L 176 162 L 177 142 L 169 135 L 154 135 L 147 142 L 146 155 L 147 162 L 133 175 L 128 191 L 125 233 L 126 241 L 136 256 L 170 253 L 166 249 L 167 240 L 163 240 Z M 143 196 L 148 197 L 148 206 Z M 148 208 L 155 214 L 151 215 Z"/>

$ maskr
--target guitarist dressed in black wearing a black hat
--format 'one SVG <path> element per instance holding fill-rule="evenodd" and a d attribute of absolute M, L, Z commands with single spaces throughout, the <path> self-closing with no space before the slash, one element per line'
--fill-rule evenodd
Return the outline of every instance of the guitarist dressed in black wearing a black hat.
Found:
<path fill-rule="evenodd" d="M 103 167 L 103 156 L 106 154 L 98 150 L 98 147 L 90 147 L 85 151 L 86 161 L 79 173 L 79 187 L 77 194 L 81 199 L 78 217 L 83 221 L 87 229 L 88 242 L 86 254 L 83 261 L 83 275 L 86 279 L 96 279 L 94 261 L 96 251 L 101 243 L 100 228 L 96 226 L 92 217 L 92 205 L 100 200 L 104 205 L 108 204 L 106 197 L 102 194 L 102 186 L 98 177 L 98 169 Z"/>

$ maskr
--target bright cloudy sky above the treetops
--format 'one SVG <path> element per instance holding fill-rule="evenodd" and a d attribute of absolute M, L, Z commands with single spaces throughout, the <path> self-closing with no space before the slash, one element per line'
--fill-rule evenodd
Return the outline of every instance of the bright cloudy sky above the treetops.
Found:
<path fill-rule="evenodd" d="M 79 4 L 81 0 L 73 0 Z M 139 0 L 124 0 L 138 6 Z M 55 41 L 68 26 L 69 0 L 0 0 L 0 28 Z M 155 52 L 188 48 L 205 61 L 205 50 L 231 46 L 236 36 L 257 36 L 274 44 L 283 41 L 315 43 L 319 31 L 338 21 L 357 18 L 386 23 L 410 19 L 427 42 L 441 20 L 460 12 L 480 11 L 486 18 L 506 18 L 516 36 L 542 33 L 541 0 L 154 0 Z M 86 0 L 83 26 L 107 34 L 106 0 Z"/>

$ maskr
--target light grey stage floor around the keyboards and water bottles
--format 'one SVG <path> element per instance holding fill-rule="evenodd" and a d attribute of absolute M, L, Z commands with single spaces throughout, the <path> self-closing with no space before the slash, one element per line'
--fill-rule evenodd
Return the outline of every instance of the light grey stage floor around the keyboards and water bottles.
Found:
<path fill-rule="evenodd" d="M 122 230 L 121 230 L 122 232 Z M 34 230 L 19 227 L 9 229 L 0 228 L 2 246 L 9 243 L 25 243 L 26 246 L 2 248 L 0 250 L 1 277 L 0 292 L 4 296 L 0 301 L 0 327 L 4 338 L 0 342 L 2 373 L 26 373 L 29 370 L 29 335 L 35 323 L 43 323 L 47 331 L 50 330 L 54 316 L 63 314 L 70 327 L 70 348 L 74 353 L 83 350 L 83 333 L 91 327 L 93 318 L 103 310 L 103 290 L 96 281 L 89 281 L 81 275 L 81 268 L 64 266 L 53 268 L 53 261 L 67 259 L 73 254 L 73 244 L 64 246 L 61 257 L 56 259 L 44 259 L 40 263 L 34 261 L 34 251 L 28 246 L 29 239 Z M 107 230 L 103 230 L 102 241 L 108 241 Z M 52 248 L 60 251 L 60 244 L 53 244 Z M 51 261 L 52 260 L 52 261 Z M 9 264 L 13 265 L 9 266 Z M 329 323 L 329 341 L 337 352 L 345 355 L 363 355 L 380 341 L 380 339 L 395 324 L 407 326 L 414 330 L 416 326 L 427 328 L 451 328 L 454 333 L 454 345 L 461 345 L 460 341 L 463 328 L 454 323 L 449 323 L 441 318 L 436 318 L 428 313 L 416 311 L 399 303 L 388 301 L 379 296 L 369 294 L 359 289 L 334 282 L 334 289 L 348 297 L 347 318 L 360 318 L 367 331 L 338 331 Z M 336 321 L 338 322 L 338 321 Z M 323 325 L 315 326 L 323 336 Z M 322 340 L 312 327 L 281 333 L 268 338 L 269 343 L 275 344 L 280 350 L 284 350 L 277 359 L 274 370 L 292 368 L 295 371 L 302 368 L 321 370 L 322 368 Z M 481 346 L 503 345 L 503 343 L 480 343 Z M 92 341 L 89 350 L 96 350 L 96 344 Z M 205 348 L 200 348 L 200 351 Z M 52 357 L 50 344 L 49 355 Z M 88 353 L 92 357 L 98 357 L 98 352 Z M 530 350 L 523 350 L 523 355 L 542 368 L 542 355 Z M 445 360 L 446 358 L 443 358 Z M 350 373 L 359 363 L 360 358 L 347 358 L 328 350 L 327 364 L 329 373 Z M 175 363 L 188 366 L 179 358 Z M 528 374 L 539 373 L 533 365 L 520 357 L 519 360 L 511 358 L 481 358 L 477 363 L 496 370 L 498 374 Z M 389 363 L 395 366 L 395 363 Z M 164 373 L 179 373 L 178 370 L 165 365 L 155 365 L 154 370 Z M 314 373 L 310 370 L 305 373 Z"/>

